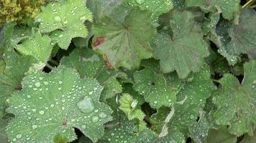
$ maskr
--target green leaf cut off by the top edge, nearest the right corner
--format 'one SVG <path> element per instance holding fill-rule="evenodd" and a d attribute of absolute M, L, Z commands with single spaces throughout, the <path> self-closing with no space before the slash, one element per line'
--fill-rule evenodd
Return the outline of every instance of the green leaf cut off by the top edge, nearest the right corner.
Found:
<path fill-rule="evenodd" d="M 239 0 L 186 0 L 186 6 L 199 6 L 206 13 L 209 11 L 218 10 L 218 13 L 222 13 L 224 19 L 233 19 L 234 15 L 240 10 Z"/>

